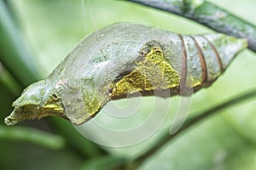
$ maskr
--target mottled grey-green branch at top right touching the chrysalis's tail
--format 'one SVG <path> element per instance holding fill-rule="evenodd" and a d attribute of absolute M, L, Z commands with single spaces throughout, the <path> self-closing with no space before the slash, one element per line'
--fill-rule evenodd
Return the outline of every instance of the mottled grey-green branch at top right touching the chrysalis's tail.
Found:
<path fill-rule="evenodd" d="M 256 52 L 256 26 L 219 8 L 207 1 L 166 1 L 166 0 L 125 0 L 140 3 L 148 7 L 158 8 L 201 23 L 214 31 L 246 38 L 248 48 Z"/>

